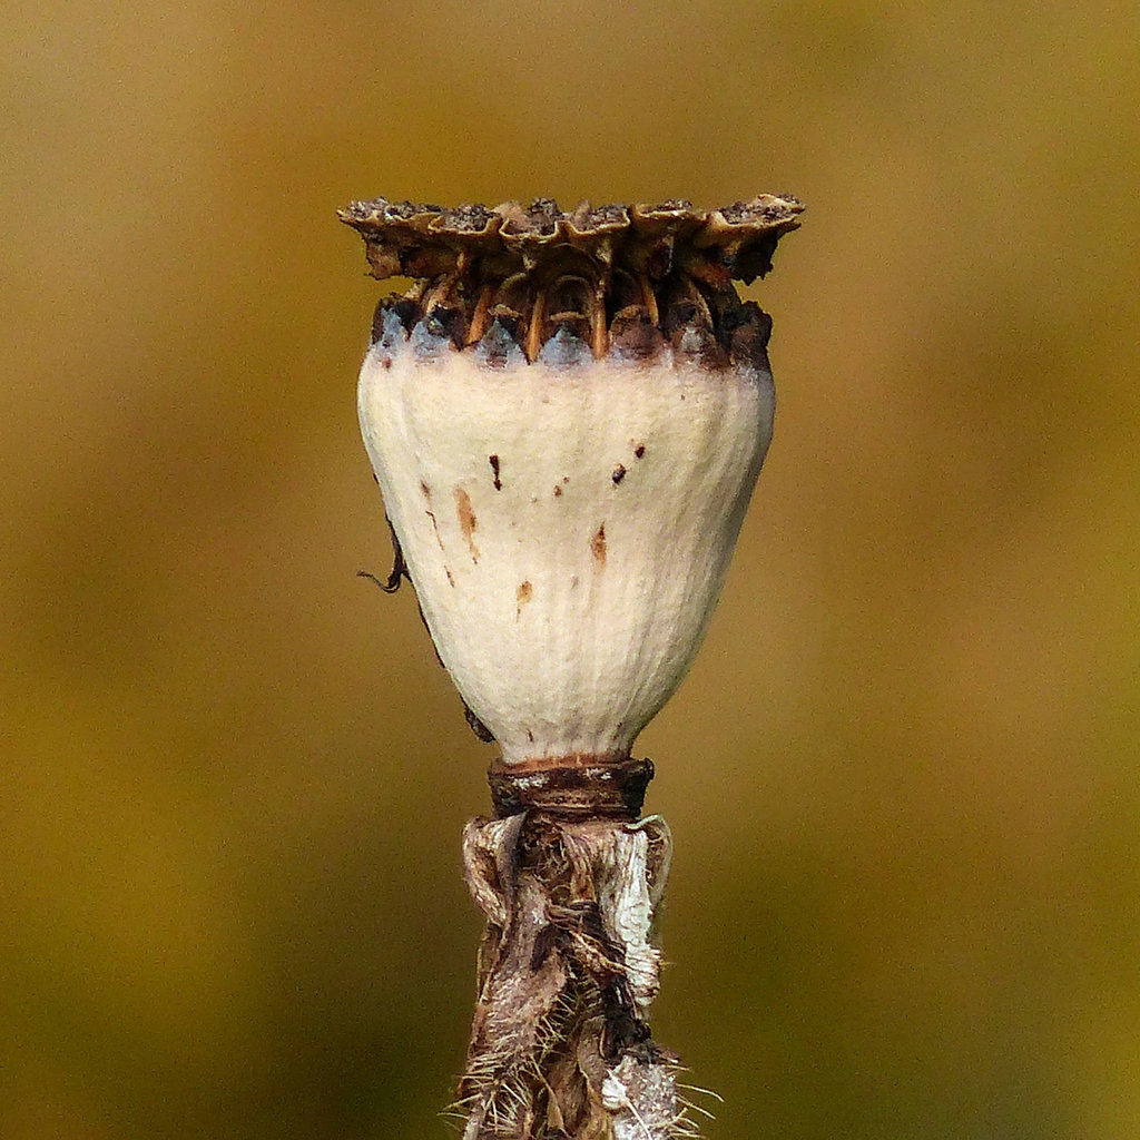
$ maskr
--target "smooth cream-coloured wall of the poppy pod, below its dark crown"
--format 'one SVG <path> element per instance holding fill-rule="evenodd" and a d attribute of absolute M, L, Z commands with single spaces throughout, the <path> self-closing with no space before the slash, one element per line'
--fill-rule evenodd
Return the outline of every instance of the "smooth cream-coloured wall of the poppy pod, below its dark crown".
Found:
<path fill-rule="evenodd" d="M 439 654 L 507 763 L 625 755 L 703 638 L 767 372 L 369 349 L 368 455 Z"/>

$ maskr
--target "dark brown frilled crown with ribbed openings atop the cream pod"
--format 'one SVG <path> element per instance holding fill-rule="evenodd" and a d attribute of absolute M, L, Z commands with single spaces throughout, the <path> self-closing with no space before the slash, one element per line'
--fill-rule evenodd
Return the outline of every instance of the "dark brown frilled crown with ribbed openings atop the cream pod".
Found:
<path fill-rule="evenodd" d="M 453 209 L 375 198 L 340 218 L 364 237 L 374 277 L 414 280 L 381 302 L 374 339 L 394 316 L 491 359 L 512 345 L 530 361 L 544 348 L 567 363 L 610 351 L 649 359 L 669 344 L 726 367 L 763 351 L 769 332 L 732 282 L 771 269 L 801 210 L 767 194 L 707 211 L 685 201 L 565 212 L 552 198 Z"/>

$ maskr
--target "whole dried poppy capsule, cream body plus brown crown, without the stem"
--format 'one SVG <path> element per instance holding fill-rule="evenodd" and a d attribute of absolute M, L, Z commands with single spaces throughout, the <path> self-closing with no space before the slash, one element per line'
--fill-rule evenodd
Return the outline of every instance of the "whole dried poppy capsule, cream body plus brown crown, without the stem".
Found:
<path fill-rule="evenodd" d="M 365 443 L 440 658 L 507 765 L 627 757 L 716 604 L 772 431 L 792 198 L 353 203 L 384 302 Z"/>

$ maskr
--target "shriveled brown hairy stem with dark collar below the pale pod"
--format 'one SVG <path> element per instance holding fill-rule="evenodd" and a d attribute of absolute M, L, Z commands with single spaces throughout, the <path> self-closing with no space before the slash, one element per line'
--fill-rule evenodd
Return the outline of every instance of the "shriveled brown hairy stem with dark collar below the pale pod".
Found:
<path fill-rule="evenodd" d="M 492 768 L 498 816 L 463 838 L 487 917 L 456 1106 L 464 1140 L 693 1134 L 677 1058 L 645 1020 L 671 852 L 665 821 L 637 817 L 651 774 L 593 757 Z"/>

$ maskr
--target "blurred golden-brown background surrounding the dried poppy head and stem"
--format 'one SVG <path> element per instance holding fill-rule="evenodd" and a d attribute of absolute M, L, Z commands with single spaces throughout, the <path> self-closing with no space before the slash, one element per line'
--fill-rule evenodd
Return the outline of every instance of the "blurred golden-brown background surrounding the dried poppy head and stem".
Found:
<path fill-rule="evenodd" d="M 1131 0 L 0 15 L 0 1137 L 420 1140 L 492 750 L 389 567 L 383 194 L 808 203 L 642 738 L 711 1140 L 1140 1135 Z"/>

